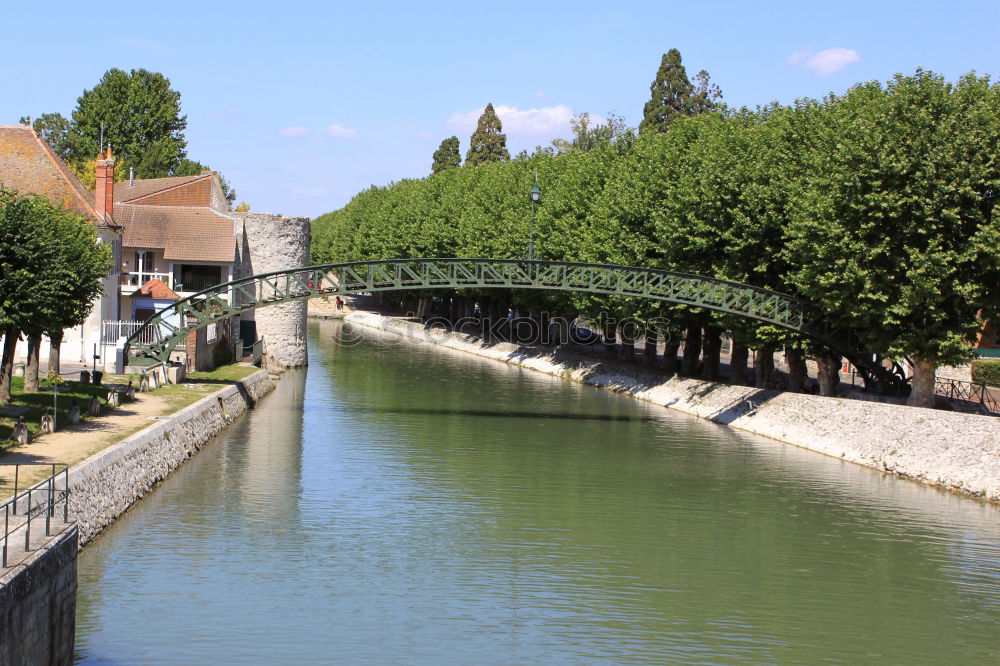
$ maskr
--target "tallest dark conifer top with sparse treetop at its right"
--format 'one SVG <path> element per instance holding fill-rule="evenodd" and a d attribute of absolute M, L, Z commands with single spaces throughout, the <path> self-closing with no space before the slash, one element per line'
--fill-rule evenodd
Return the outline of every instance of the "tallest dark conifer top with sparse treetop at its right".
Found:
<path fill-rule="evenodd" d="M 649 86 L 650 100 L 642 109 L 640 132 L 666 132 L 675 119 L 711 111 L 716 100 L 722 97 L 718 86 L 709 82 L 708 72 L 702 70 L 695 77 L 696 88 L 687 77 L 681 64 L 681 52 L 670 49 L 663 54 L 660 69 Z"/>

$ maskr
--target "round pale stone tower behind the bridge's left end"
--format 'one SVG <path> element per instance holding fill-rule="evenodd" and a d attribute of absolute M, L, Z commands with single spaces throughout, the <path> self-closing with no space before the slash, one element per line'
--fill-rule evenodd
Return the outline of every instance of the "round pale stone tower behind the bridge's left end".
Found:
<path fill-rule="evenodd" d="M 240 248 L 240 276 L 309 265 L 310 220 L 268 213 L 234 213 Z M 306 359 L 306 301 L 279 303 L 244 313 L 264 338 L 268 367 L 293 368 Z"/>

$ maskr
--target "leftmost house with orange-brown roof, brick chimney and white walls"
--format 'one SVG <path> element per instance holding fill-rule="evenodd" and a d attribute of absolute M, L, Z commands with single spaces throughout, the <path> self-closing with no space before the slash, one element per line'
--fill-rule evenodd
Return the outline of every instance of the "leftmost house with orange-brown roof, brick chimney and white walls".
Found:
<path fill-rule="evenodd" d="M 91 363 L 95 354 L 101 354 L 102 322 L 121 317 L 118 267 L 122 229 L 114 219 L 114 168 L 115 161 L 108 149 L 97 160 L 97 188 L 90 192 L 31 127 L 0 125 L 0 186 L 22 194 L 45 196 L 53 204 L 82 215 L 97 227 L 98 242 L 109 244 L 113 250 L 113 267 L 102 281 L 101 294 L 87 320 L 63 333 L 61 355 L 67 361 Z M 48 354 L 48 344 L 43 339 L 40 350 L 43 358 Z M 26 356 L 27 345 L 22 341 L 15 359 Z"/>

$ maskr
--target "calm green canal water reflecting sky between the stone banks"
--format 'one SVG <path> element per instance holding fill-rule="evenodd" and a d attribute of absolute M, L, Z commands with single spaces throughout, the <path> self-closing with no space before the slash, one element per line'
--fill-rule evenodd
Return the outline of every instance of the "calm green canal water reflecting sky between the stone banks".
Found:
<path fill-rule="evenodd" d="M 338 336 L 81 553 L 80 663 L 1000 658 L 994 505 Z"/>

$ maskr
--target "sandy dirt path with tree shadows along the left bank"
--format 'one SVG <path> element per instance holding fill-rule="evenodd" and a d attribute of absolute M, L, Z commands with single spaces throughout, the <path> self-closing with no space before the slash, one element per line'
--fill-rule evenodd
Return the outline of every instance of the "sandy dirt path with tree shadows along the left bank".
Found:
<path fill-rule="evenodd" d="M 153 418 L 169 407 L 167 401 L 152 393 L 137 393 L 133 402 L 106 411 L 77 425 L 42 435 L 25 446 L 0 453 L 0 497 L 11 494 L 14 486 L 14 464 L 65 463 L 74 465 L 111 444 L 150 425 Z M 22 468 L 18 487 L 41 481 L 51 473 L 44 465 Z"/>

